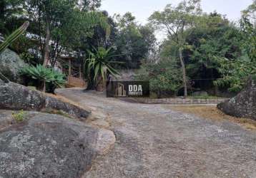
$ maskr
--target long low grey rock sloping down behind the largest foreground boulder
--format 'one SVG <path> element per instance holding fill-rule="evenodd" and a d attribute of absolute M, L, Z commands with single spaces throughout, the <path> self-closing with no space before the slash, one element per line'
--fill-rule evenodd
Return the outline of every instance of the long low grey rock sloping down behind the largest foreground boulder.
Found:
<path fill-rule="evenodd" d="M 0 80 L 0 108 L 8 110 L 61 110 L 69 115 L 84 120 L 91 111 L 76 105 L 65 103 L 44 95 L 36 90 L 29 90 L 24 85 L 4 83 Z"/>

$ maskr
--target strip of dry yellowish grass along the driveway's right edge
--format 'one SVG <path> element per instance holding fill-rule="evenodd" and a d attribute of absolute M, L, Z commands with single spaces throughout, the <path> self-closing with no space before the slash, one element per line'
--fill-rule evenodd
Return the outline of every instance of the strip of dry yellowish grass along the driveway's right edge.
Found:
<path fill-rule="evenodd" d="M 230 115 L 226 115 L 222 111 L 218 110 L 215 106 L 199 106 L 199 105 L 192 105 L 192 106 L 171 106 L 173 110 L 187 112 L 193 115 L 197 115 L 199 117 L 208 118 L 211 120 L 228 120 L 230 122 L 242 125 L 247 130 L 256 130 L 256 121 L 250 120 L 246 118 L 239 118 L 239 117 L 232 117 Z"/>

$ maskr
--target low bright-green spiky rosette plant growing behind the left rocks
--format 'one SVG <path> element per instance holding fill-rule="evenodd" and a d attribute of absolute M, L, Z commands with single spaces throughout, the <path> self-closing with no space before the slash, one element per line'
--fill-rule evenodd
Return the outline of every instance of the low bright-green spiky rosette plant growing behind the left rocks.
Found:
<path fill-rule="evenodd" d="M 66 83 L 64 74 L 59 73 L 52 68 L 45 68 L 41 65 L 22 68 L 20 73 L 29 78 L 39 80 L 42 84 L 39 89 L 43 92 L 46 90 L 46 83 L 51 83 L 59 88 Z"/>

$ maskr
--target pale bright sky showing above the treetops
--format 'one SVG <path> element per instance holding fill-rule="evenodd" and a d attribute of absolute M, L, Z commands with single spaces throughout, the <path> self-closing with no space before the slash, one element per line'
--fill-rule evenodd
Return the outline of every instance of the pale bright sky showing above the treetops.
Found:
<path fill-rule="evenodd" d="M 178 4 L 181 0 L 102 0 L 102 10 L 107 10 L 110 16 L 132 12 L 139 23 L 147 23 L 147 19 L 154 11 L 161 11 L 167 4 Z M 252 4 L 252 0 L 202 0 L 202 10 L 210 13 L 217 11 L 227 15 L 227 19 L 237 21 L 241 11 Z M 164 38 L 162 33 L 157 33 L 160 41 Z"/>

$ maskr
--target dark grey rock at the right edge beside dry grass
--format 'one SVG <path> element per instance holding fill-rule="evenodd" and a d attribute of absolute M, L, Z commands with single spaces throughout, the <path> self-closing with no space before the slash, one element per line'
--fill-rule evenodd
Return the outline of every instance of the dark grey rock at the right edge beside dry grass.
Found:
<path fill-rule="evenodd" d="M 235 117 L 247 117 L 256 120 L 256 82 L 250 79 L 247 86 L 241 93 L 224 103 L 217 105 L 217 108 L 227 115 Z"/>

